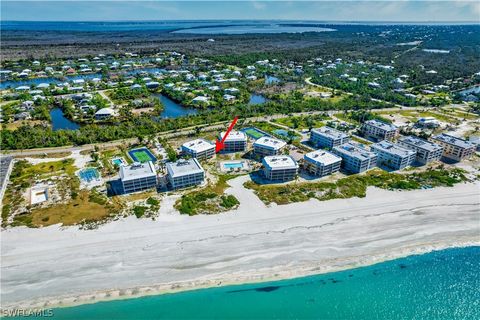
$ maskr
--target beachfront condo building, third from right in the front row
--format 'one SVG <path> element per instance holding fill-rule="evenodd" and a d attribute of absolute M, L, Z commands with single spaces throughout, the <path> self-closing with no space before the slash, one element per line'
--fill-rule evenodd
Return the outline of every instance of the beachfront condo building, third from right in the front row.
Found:
<path fill-rule="evenodd" d="M 377 154 L 377 165 L 393 170 L 404 169 L 415 162 L 416 151 L 401 147 L 389 141 L 380 141 L 371 146 Z"/>

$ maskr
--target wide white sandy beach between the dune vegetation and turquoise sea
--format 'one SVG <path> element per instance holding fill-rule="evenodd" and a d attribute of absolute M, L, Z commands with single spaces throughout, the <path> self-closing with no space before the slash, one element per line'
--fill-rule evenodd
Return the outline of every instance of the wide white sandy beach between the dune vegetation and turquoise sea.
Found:
<path fill-rule="evenodd" d="M 219 215 L 182 216 L 169 196 L 155 221 L 2 230 L 2 308 L 292 278 L 480 243 L 478 183 L 267 207 L 245 179 L 227 190 L 239 208 Z"/>

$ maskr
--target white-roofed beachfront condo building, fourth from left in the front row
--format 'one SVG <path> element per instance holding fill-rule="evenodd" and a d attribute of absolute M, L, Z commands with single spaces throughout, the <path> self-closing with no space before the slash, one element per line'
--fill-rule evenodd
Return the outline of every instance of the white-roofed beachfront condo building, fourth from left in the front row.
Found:
<path fill-rule="evenodd" d="M 305 170 L 316 176 L 326 176 L 340 170 L 342 158 L 325 150 L 316 150 L 303 157 Z"/>

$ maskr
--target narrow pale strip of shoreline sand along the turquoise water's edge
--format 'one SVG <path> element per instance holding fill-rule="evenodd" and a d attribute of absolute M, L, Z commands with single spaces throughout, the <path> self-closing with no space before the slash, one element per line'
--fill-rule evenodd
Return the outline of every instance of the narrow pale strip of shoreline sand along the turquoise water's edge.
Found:
<path fill-rule="evenodd" d="M 277 276 L 268 277 L 265 274 L 268 274 L 268 270 L 265 270 L 265 274 L 257 274 L 255 276 L 237 278 L 235 280 L 229 280 L 228 278 L 218 278 L 212 280 L 192 280 L 191 282 L 187 283 L 165 283 L 165 284 L 157 284 L 145 287 L 137 287 L 137 288 L 128 288 L 128 289 L 112 289 L 100 292 L 93 292 L 93 293 L 85 293 L 75 297 L 58 297 L 56 299 L 52 299 L 51 301 L 46 300 L 45 302 L 40 302 L 39 304 L 34 304 L 29 306 L 29 309 L 33 310 L 41 310 L 41 309 L 58 309 L 58 308 L 70 308 L 70 307 L 77 307 L 86 304 L 95 304 L 99 302 L 113 302 L 113 301 L 121 301 L 121 300 L 128 300 L 128 299 L 137 299 L 137 298 L 144 298 L 149 296 L 157 296 L 157 295 L 164 295 L 164 294 L 176 294 L 181 292 L 187 291 L 195 291 L 195 290 L 202 290 L 202 289 L 211 289 L 211 288 L 218 288 L 218 287 L 226 287 L 226 286 L 236 286 L 236 285 L 254 285 L 262 282 L 273 282 L 273 281 L 282 281 L 282 280 L 290 280 L 296 278 L 303 278 L 308 276 L 315 276 L 315 275 L 324 275 L 328 273 L 335 273 L 339 271 L 345 270 L 352 270 L 362 267 L 368 267 L 375 264 L 379 264 L 382 262 L 397 260 L 401 258 L 405 258 L 408 256 L 415 256 L 415 255 L 423 255 L 433 251 L 441 251 L 446 249 L 454 249 L 454 248 L 466 248 L 466 247 L 473 247 L 473 246 L 480 246 L 480 241 L 474 240 L 466 240 L 464 242 L 456 243 L 453 245 L 447 244 L 422 244 L 419 247 L 415 248 L 400 248 L 398 252 L 391 253 L 389 255 L 386 254 L 379 254 L 378 256 L 369 256 L 361 257 L 366 260 L 371 260 L 369 262 L 350 262 L 347 263 L 343 267 L 333 267 L 333 266 L 323 266 L 324 270 L 318 272 L 318 268 L 322 267 L 314 267 L 311 266 L 310 268 L 305 267 L 305 270 L 300 269 L 297 272 L 294 272 L 295 275 L 291 275 L 292 270 L 285 270 L 284 273 L 288 275 L 282 276 L 282 271 L 277 271 Z M 313 269 L 310 270 L 309 269 Z M 119 291 L 123 291 L 122 294 L 116 295 Z M 112 295 L 113 294 L 113 295 Z M 92 298 L 94 297 L 94 298 Z M 77 301 L 74 301 L 74 300 Z M 2 308 L 2 310 L 14 310 L 18 307 L 13 306 L 9 308 Z"/>

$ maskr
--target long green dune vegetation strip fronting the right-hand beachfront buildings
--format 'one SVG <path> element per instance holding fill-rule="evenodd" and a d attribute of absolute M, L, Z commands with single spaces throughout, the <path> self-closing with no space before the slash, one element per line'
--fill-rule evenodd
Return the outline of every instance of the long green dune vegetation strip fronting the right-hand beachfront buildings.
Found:
<path fill-rule="evenodd" d="M 367 187 L 375 186 L 388 190 L 415 190 L 437 186 L 453 186 L 467 181 L 462 169 L 429 169 L 419 173 L 389 173 L 375 169 L 362 175 L 352 175 L 337 182 L 292 183 L 288 185 L 259 185 L 253 181 L 244 184 L 254 190 L 266 204 L 288 204 L 311 198 L 323 200 L 365 197 Z"/>

